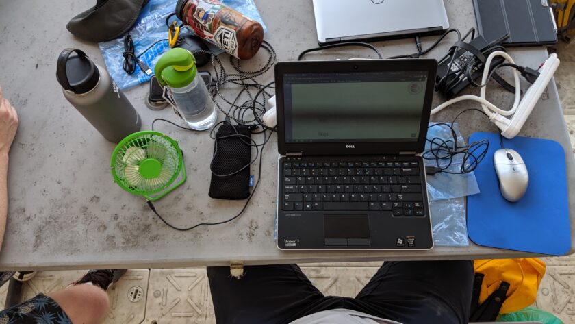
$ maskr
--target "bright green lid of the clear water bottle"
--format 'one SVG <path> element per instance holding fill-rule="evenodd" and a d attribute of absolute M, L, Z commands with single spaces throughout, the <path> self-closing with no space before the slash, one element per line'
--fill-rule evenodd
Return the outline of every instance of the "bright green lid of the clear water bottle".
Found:
<path fill-rule="evenodd" d="M 154 68 L 157 81 L 162 86 L 183 88 L 194 81 L 198 68 L 196 58 L 187 49 L 176 47 L 159 58 Z"/>

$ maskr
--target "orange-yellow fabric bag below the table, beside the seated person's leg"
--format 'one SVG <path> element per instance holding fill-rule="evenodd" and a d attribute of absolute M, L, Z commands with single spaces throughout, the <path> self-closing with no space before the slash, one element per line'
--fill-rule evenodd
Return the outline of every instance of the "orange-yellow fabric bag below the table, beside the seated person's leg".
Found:
<path fill-rule="evenodd" d="M 485 276 L 479 294 L 480 304 L 499 288 L 501 282 L 511 285 L 500 310 L 500 314 L 506 314 L 535 302 L 541 278 L 545 275 L 545 262 L 538 258 L 474 260 L 474 269 Z"/>

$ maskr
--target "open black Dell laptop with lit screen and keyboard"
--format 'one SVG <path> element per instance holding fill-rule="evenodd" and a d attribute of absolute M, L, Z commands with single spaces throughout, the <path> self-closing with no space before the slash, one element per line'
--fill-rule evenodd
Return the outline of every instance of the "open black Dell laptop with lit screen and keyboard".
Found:
<path fill-rule="evenodd" d="M 431 249 L 435 60 L 279 62 L 279 249 Z"/>

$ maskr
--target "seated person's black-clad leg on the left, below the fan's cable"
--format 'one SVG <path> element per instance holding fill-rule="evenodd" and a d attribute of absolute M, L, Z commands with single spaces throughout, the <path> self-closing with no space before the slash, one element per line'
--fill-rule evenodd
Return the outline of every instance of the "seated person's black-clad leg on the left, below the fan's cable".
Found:
<path fill-rule="evenodd" d="M 207 277 L 218 324 L 289 323 L 324 298 L 296 264 L 246 266 L 241 279 L 208 267 Z"/>

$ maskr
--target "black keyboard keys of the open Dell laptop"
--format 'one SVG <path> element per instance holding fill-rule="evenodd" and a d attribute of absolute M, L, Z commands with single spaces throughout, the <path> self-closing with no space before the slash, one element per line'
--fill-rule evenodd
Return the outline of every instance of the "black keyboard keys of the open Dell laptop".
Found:
<path fill-rule="evenodd" d="M 283 210 L 424 216 L 419 162 L 283 162 Z"/>

